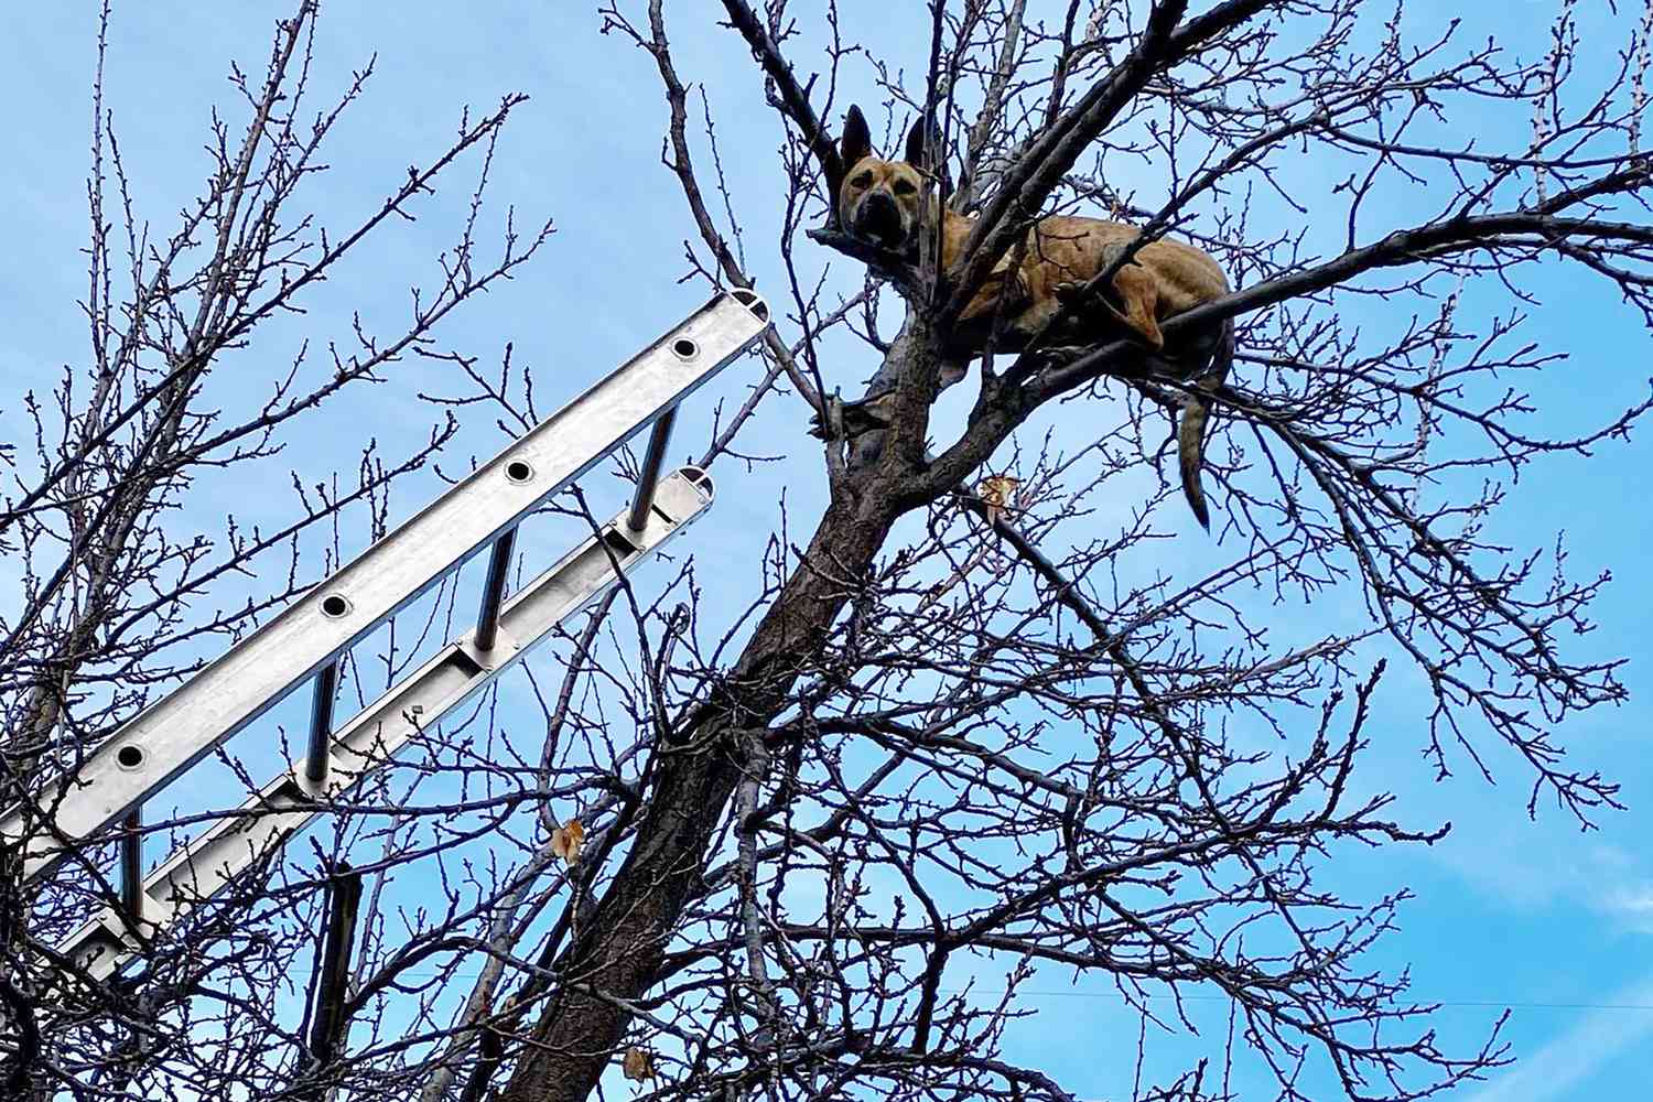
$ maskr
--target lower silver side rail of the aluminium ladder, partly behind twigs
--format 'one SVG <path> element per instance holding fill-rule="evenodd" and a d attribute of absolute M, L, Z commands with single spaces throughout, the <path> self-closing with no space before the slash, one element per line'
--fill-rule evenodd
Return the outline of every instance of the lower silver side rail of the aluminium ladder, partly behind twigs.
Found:
<path fill-rule="evenodd" d="M 312 783 L 299 758 L 198 838 L 175 849 L 144 881 L 139 907 L 144 932 L 154 937 L 205 904 L 246 869 L 273 854 L 296 831 L 326 813 L 326 800 L 355 788 L 387 765 L 422 729 L 488 686 L 503 669 L 559 623 L 617 582 L 613 562 L 630 573 L 660 547 L 698 520 L 712 504 L 712 482 L 696 468 L 661 479 L 641 532 L 622 534 L 630 509 L 514 593 L 499 611 L 491 651 L 478 651 L 474 631 L 438 651 L 334 732 L 326 780 Z M 610 558 L 612 557 L 612 558 Z M 112 907 L 83 925 L 58 952 L 106 980 L 141 945 Z"/>

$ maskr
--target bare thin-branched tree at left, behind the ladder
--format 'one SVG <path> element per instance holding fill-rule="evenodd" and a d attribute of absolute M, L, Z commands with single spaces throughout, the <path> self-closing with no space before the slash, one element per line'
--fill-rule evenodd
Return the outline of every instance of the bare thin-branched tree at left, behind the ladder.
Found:
<path fill-rule="evenodd" d="M 428 430 L 415 430 L 392 454 L 362 441 L 357 471 L 342 479 L 304 486 L 294 474 L 291 520 L 274 530 L 241 525 L 231 514 L 218 537 L 182 535 L 167 517 L 190 487 L 225 468 L 256 469 L 302 443 L 307 415 L 382 382 L 400 360 L 453 355 L 435 344 L 438 324 L 509 278 L 550 235 L 550 223 L 519 236 L 507 221 L 498 245 L 478 240 L 494 142 L 521 96 L 506 97 L 484 116 L 466 116 L 453 144 L 433 150 L 403 178 L 392 178 L 382 205 L 359 223 L 321 225 L 306 207 L 311 180 L 326 172 L 321 150 L 364 94 L 372 64 L 352 73 L 336 101 L 314 106 L 316 18 L 314 0 L 301 0 L 276 26 L 263 73 L 231 69 L 238 121 L 213 116 L 205 190 L 160 238 L 150 235 L 134 205 L 127 165 L 109 129 L 102 83 L 109 5 L 102 8 L 93 83 L 88 289 L 81 301 L 89 355 L 64 368 L 51 395 L 18 395 L 35 423 L 33 448 L 0 454 L 12 482 L 0 507 L 0 549 L 17 567 L 8 575 L 21 582 L 15 610 L 0 623 L 7 805 L 45 778 L 73 773 L 86 750 L 159 687 L 192 672 L 203 653 L 241 638 L 271 608 L 307 588 L 314 568 L 299 558 L 306 540 L 321 535 L 326 542 L 331 532 L 326 570 L 337 565 L 341 517 L 382 534 L 392 482 L 428 464 L 456 425 L 436 413 Z M 435 258 L 445 278 L 435 287 L 410 289 L 400 329 L 375 332 L 357 316 L 352 332 L 309 334 L 312 340 L 301 342 L 289 362 L 273 362 L 261 387 L 240 390 L 256 395 L 251 405 L 215 405 L 223 395 L 210 387 L 215 368 L 279 319 L 324 302 L 331 274 L 359 256 L 367 259 L 377 240 L 420 211 L 438 178 L 460 173 L 466 164 L 471 218 Z M 344 311 L 349 316 L 349 306 Z M 264 578 L 256 596 L 208 615 L 192 610 L 207 596 L 233 598 L 226 583 L 255 572 Z M 150 829 L 165 836 L 177 824 Z M 207 962 L 192 960 L 187 950 L 172 957 L 170 967 L 154 962 L 159 970 L 145 983 L 104 988 L 73 1013 L 55 1013 L 50 1026 L 41 1021 L 50 1005 L 41 996 L 55 983 L 76 980 L 73 968 L 43 976 L 40 952 L 86 915 L 88 900 L 109 899 L 111 891 L 94 866 L 83 864 L 64 879 L 40 899 L 7 892 L 5 957 L 18 980 L 3 991 L 13 1033 L 23 1036 L 8 1061 L 7 1097 L 30 1081 L 51 1095 L 78 1076 L 76 1089 L 121 1092 L 132 1087 L 144 1061 L 165 1061 L 190 1043 L 192 1026 L 177 1033 L 172 1026 L 164 1033 L 149 1024 L 121 1033 L 107 1028 L 109 1021 L 162 1019 L 195 993 Z M 271 962 L 302 943 L 274 937 Z M 246 1059 L 255 1061 L 286 1031 L 269 1021 L 271 1033 L 263 1038 L 264 1026 L 238 1013 L 225 1024 L 238 1038 L 253 1038 Z M 116 1036 L 119 1041 L 109 1043 Z M 233 1064 L 222 1071 L 241 1074 Z"/>

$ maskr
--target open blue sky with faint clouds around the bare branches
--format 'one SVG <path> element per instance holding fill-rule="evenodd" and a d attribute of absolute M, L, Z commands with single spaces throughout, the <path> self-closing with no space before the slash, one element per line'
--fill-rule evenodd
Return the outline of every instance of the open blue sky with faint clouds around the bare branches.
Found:
<path fill-rule="evenodd" d="M 159 231 L 170 228 L 205 172 L 200 145 L 210 104 L 228 93 L 226 61 L 238 58 L 256 68 L 271 21 L 288 7 L 117 5 L 107 96 L 136 183 L 136 205 Z M 1552 7 L 1521 5 L 1546 17 Z M 676 63 L 688 79 L 711 81 L 721 154 L 737 187 L 749 254 L 760 286 L 777 286 L 772 241 L 779 210 L 769 198 L 779 126 L 762 104 L 749 55 L 731 31 L 714 25 L 712 8 L 701 0 L 668 5 Z M 886 41 L 911 41 L 907 64 L 916 68 L 924 58 L 917 8 L 845 3 L 845 31 L 851 38 L 876 33 Z M 514 203 L 527 221 L 552 216 L 557 235 L 521 279 L 466 309 L 443 335 L 484 362 L 512 340 L 519 360 L 536 365 L 542 401 L 555 405 L 704 299 L 701 287 L 676 283 L 681 243 L 693 228 L 674 178 L 660 165 L 665 106 L 650 61 L 620 36 L 600 36 L 588 3 L 489 5 L 486 12 L 481 5 L 405 3 L 395 5 L 393 18 L 383 15 L 387 10 L 345 0 L 326 7 L 317 59 L 322 84 L 337 88 L 347 69 L 365 63 L 372 51 L 379 59 L 365 101 L 334 139 L 334 169 L 319 182 L 312 202 L 337 221 L 372 208 L 407 164 L 441 149 L 463 104 L 486 109 L 504 93 L 529 93 L 531 102 L 501 142 L 494 203 L 496 210 Z M 1496 30 L 1514 35 L 1517 50 L 1542 48 L 1537 21 Z M 1527 31 L 1531 38 L 1521 40 Z M 91 5 L 20 5 L 8 13 L 8 35 L 0 41 L 0 96 L 12 149 L 0 164 L 0 240 L 7 241 L 8 259 L 0 268 L 5 438 L 21 431 L 17 393 L 48 387 L 63 363 L 79 362 L 86 347 L 74 302 L 84 291 L 79 249 L 86 236 L 93 33 Z M 871 69 L 858 61 L 846 64 L 851 94 L 841 102 L 878 99 Z M 253 354 L 240 357 L 236 372 L 222 372 L 217 385 L 228 388 L 225 395 L 245 398 L 238 387 L 261 387 L 260 368 L 284 363 L 302 335 L 347 335 L 350 309 L 360 309 L 370 322 L 393 319 L 405 307 L 407 283 L 431 271 L 431 258 L 448 243 L 469 180 L 456 177 L 436 197 L 430 218 L 397 226 L 364 263 L 334 279 L 311 314 L 274 329 Z M 1403 207 L 1405 198 L 1392 202 Z M 843 261 L 833 264 L 833 273 L 838 286 L 858 281 Z M 1570 359 L 1536 387 L 1544 416 L 1582 425 L 1636 400 L 1650 362 L 1646 334 L 1610 294 L 1577 276 L 1557 276 L 1549 287 L 1554 294 L 1534 311 L 1527 335 Z M 848 392 L 871 367 L 865 357 L 846 359 L 830 382 Z M 747 382 L 741 370 L 731 370 L 686 411 L 674 456 L 703 448 L 719 398 L 739 401 Z M 243 519 L 274 520 L 291 507 L 284 491 L 289 468 L 306 481 L 336 468 L 350 469 L 370 436 L 395 454 L 412 446 L 410 435 L 418 439 L 430 420 L 415 393 L 456 388 L 440 368 L 405 362 L 385 387 L 365 392 L 349 408 L 324 411 L 316 431 L 296 438 L 261 474 L 203 481 L 175 522 L 210 529 L 222 524 L 231 504 Z M 782 492 L 793 525 L 810 515 L 822 501 L 823 474 L 818 451 L 798 446 L 803 420 L 797 401 L 770 403 L 744 449 L 792 454 L 792 461 L 752 469 L 722 466 L 719 504 L 678 547 L 679 553 L 693 552 L 703 563 L 754 560 L 779 520 Z M 450 463 L 460 466 L 466 454 L 489 454 L 499 443 L 486 421 L 466 423 Z M 1602 816 L 1595 833 L 1580 833 L 1549 808 L 1529 823 L 1522 811 L 1526 775 L 1496 752 L 1491 760 L 1498 786 L 1468 772 L 1433 783 L 1418 757 L 1422 725 L 1407 697 L 1407 679 L 1395 676 L 1379 697 L 1384 719 L 1365 762 L 1365 783 L 1397 791 L 1408 821 L 1450 818 L 1455 831 L 1430 849 L 1365 854 L 1331 869 L 1336 882 L 1352 892 L 1413 889 L 1418 899 L 1402 912 L 1402 932 L 1384 952 L 1392 962 L 1410 962 L 1422 1000 L 1446 1003 L 1440 1011 L 1446 1039 L 1468 1041 L 1498 1008 L 1512 1008 L 1508 1036 L 1522 1064 L 1481 1089 L 1461 1092 L 1476 1102 L 1633 1099 L 1638 1085 L 1653 1081 L 1653 857 L 1645 844 L 1653 831 L 1653 765 L 1646 753 L 1653 684 L 1641 644 L 1641 623 L 1653 605 L 1641 552 L 1653 530 L 1638 509 L 1645 496 L 1640 473 L 1650 461 L 1653 448 L 1638 438 L 1603 446 L 1590 459 L 1541 464 L 1522 476 L 1499 522 L 1499 534 L 1517 547 L 1544 545 L 1555 529 L 1565 529 L 1575 573 L 1613 572 L 1608 596 L 1597 608 L 1600 631 L 1580 639 L 1579 653 L 1628 654 L 1633 661 L 1623 679 L 1632 702 L 1570 722 L 1562 742 L 1579 765 L 1602 768 L 1623 783 L 1630 811 Z M 618 482 L 592 482 L 593 494 L 608 494 L 618 504 Z M 433 477 L 405 482 L 397 515 L 436 487 Z M 1217 553 L 1179 544 L 1172 567 L 1193 567 Z M 737 608 L 742 596 L 731 587 L 721 603 Z M 235 600 L 235 593 L 215 593 L 215 600 Z M 707 603 L 719 605 L 716 587 Z M 1079 1097 L 1116 1097 L 1117 1071 L 1129 1067 L 1136 1044 L 1134 1019 L 1116 1000 L 1066 990 L 1055 975 L 1041 978 L 1038 990 L 1043 995 L 1036 1001 L 1048 1013 L 1036 1028 L 1012 1034 L 1010 1056 L 1056 1074 Z M 1099 1039 L 1108 1043 L 1098 1046 Z M 1152 1033 L 1147 1047 L 1150 1062 L 1167 1069 L 1192 1051 L 1185 1041 Z"/>

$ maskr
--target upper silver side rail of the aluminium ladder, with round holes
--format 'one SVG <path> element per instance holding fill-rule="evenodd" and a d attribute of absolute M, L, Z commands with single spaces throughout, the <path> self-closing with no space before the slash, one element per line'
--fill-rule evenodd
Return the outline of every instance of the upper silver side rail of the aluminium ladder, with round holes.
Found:
<path fill-rule="evenodd" d="M 712 299 L 141 712 L 48 786 L 35 816 L 12 808 L 0 819 L 0 844 L 18 844 L 30 834 L 30 818 L 50 816 L 55 829 L 31 833 L 23 862 L 26 879 L 43 874 L 673 410 L 757 340 L 767 317 L 749 291 Z"/>

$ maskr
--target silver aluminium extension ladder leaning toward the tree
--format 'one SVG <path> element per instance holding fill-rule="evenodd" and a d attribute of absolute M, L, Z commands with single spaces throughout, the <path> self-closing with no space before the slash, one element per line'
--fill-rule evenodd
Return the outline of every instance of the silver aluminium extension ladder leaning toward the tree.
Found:
<path fill-rule="evenodd" d="M 712 299 L 0 818 L 0 844 L 23 846 L 25 881 L 86 861 L 106 828 L 122 826 L 121 902 L 60 952 L 98 980 L 117 971 L 699 519 L 712 504 L 706 473 L 660 477 L 678 403 L 767 325 L 769 309 L 750 291 Z M 517 524 L 645 425 L 653 431 L 630 507 L 506 600 Z M 476 626 L 336 729 L 339 661 L 350 644 L 483 547 L 491 550 Z M 314 684 L 304 757 L 145 877 L 144 801 L 304 681 Z"/>

